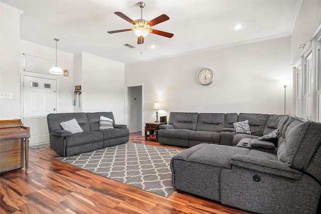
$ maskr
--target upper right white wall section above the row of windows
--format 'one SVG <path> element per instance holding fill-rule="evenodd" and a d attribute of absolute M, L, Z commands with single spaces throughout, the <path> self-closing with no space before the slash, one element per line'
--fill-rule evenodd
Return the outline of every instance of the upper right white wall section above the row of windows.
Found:
<path fill-rule="evenodd" d="M 303 52 L 299 45 L 307 45 L 320 25 L 321 1 L 302 1 L 291 36 L 291 62 L 293 64 Z"/>

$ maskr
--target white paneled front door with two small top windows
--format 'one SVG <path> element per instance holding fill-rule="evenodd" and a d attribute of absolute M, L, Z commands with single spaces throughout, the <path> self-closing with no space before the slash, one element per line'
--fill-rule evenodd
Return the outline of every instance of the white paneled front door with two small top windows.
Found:
<path fill-rule="evenodd" d="M 49 142 L 47 115 L 56 113 L 57 80 L 24 76 L 24 125 L 30 144 Z"/>

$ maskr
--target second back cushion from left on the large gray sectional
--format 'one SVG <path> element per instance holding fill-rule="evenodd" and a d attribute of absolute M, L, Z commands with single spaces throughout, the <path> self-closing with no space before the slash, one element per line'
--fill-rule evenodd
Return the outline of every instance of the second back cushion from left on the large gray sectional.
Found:
<path fill-rule="evenodd" d="M 197 131 L 220 132 L 225 127 L 224 113 L 200 113 L 197 121 Z"/>

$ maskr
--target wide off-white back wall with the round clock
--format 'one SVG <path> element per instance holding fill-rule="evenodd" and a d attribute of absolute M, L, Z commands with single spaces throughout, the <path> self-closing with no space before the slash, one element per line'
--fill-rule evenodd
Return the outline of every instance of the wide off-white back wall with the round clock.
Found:
<path fill-rule="evenodd" d="M 215 80 L 197 81 L 202 68 L 211 68 Z M 144 84 L 143 122 L 179 112 L 246 112 L 283 114 L 284 88 L 279 80 L 291 78 L 290 37 L 221 48 L 188 55 L 125 65 L 125 85 Z M 287 88 L 287 104 L 292 89 Z M 287 105 L 287 114 L 294 112 Z"/>

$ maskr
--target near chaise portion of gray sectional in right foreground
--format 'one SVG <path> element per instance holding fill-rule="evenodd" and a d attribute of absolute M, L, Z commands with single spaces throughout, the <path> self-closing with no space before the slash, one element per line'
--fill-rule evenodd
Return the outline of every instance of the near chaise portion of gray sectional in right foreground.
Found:
<path fill-rule="evenodd" d="M 277 144 L 276 154 L 208 143 L 188 148 L 172 158 L 173 187 L 252 212 L 317 213 L 321 123 L 290 116 Z"/>

